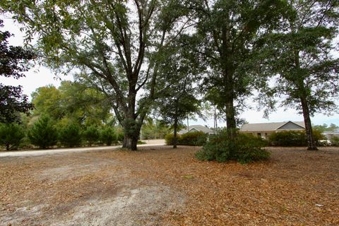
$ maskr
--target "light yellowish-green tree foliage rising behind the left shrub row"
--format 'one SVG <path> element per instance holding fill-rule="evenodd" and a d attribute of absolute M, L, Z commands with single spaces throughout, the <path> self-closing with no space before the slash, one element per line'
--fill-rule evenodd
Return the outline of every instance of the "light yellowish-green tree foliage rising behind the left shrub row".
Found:
<path fill-rule="evenodd" d="M 112 120 L 107 97 L 81 82 L 62 81 L 59 88 L 52 85 L 37 88 L 32 93 L 34 115 L 49 114 L 54 120 L 72 119 L 78 124 L 101 125 Z"/>

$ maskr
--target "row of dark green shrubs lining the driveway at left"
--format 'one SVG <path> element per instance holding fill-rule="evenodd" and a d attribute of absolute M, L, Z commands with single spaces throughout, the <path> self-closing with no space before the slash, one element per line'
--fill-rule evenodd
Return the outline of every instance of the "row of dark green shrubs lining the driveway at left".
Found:
<path fill-rule="evenodd" d="M 117 144 L 122 141 L 124 134 L 111 126 L 97 128 L 88 126 L 81 129 L 77 124 L 66 124 L 57 128 L 48 116 L 42 116 L 30 129 L 18 124 L 0 124 L 0 145 L 6 150 L 16 150 L 23 146 L 35 145 L 39 148 L 51 148 L 54 145 L 77 147 L 105 143 Z"/>

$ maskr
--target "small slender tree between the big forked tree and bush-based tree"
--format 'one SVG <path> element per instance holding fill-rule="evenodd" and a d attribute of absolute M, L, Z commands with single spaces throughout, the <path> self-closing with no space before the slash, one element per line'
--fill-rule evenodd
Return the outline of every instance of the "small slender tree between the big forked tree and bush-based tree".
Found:
<path fill-rule="evenodd" d="M 201 67 L 194 61 L 195 57 L 189 48 L 180 46 L 179 43 L 168 47 L 162 59 L 159 74 L 162 77 L 160 87 L 163 88 L 156 102 L 163 121 L 173 126 L 173 148 L 177 148 L 177 129 L 180 121 L 189 113 L 199 110 L 200 101 L 196 95 Z"/>

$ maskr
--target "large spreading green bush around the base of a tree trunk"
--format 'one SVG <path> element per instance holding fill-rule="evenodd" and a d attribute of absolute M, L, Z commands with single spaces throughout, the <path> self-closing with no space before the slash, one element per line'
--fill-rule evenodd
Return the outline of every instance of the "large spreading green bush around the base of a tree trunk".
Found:
<path fill-rule="evenodd" d="M 242 164 L 257 160 L 266 160 L 270 153 L 263 149 L 266 141 L 250 134 L 238 133 L 237 137 L 230 139 L 227 133 L 222 132 L 210 136 L 208 142 L 196 153 L 199 160 L 217 160 L 226 162 L 236 160 Z"/>

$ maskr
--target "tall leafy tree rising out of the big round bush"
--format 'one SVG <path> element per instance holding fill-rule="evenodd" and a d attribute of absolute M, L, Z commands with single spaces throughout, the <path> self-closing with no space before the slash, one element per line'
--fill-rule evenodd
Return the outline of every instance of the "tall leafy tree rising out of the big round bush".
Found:
<path fill-rule="evenodd" d="M 237 113 L 251 95 L 253 45 L 280 16 L 283 1 L 192 1 L 198 18 L 196 52 L 208 66 L 205 92 L 225 112 L 227 134 L 237 135 Z M 251 63 L 251 64 L 249 64 Z"/>

